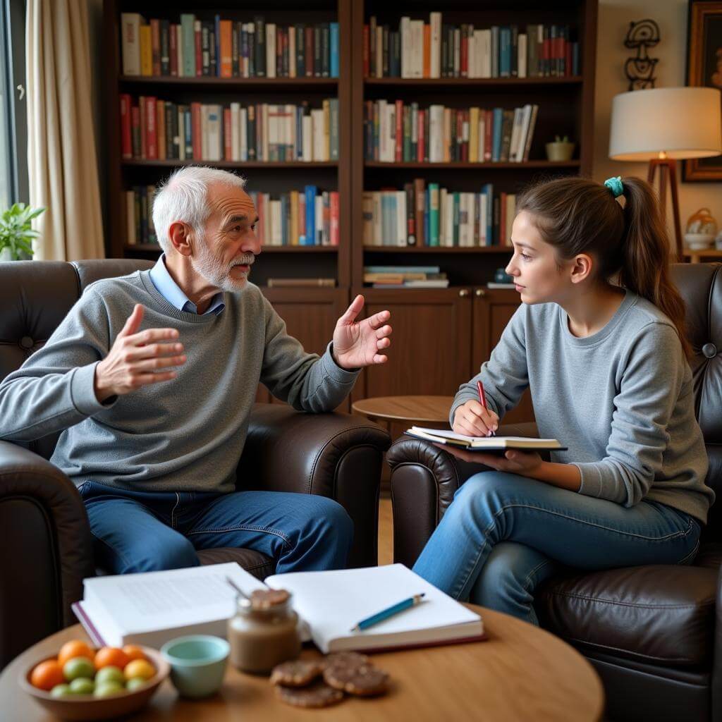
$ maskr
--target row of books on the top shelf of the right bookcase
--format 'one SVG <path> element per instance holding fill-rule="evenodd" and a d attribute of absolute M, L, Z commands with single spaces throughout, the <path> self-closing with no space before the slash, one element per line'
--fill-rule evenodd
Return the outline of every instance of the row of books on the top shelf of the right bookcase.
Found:
<path fill-rule="evenodd" d="M 429 22 L 401 17 L 399 30 L 363 29 L 365 77 L 526 78 L 579 74 L 579 43 L 569 25 L 448 25 L 440 12 Z"/>

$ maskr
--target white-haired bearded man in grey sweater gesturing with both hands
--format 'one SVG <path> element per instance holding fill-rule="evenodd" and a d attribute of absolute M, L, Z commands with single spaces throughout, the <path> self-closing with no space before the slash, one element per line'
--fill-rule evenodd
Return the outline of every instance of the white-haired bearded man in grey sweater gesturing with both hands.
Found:
<path fill-rule="evenodd" d="M 212 547 L 256 549 L 279 573 L 345 565 L 353 529 L 339 504 L 235 492 L 236 466 L 259 381 L 295 409 L 334 409 L 360 367 L 386 361 L 390 314 L 356 321 L 357 296 L 323 356 L 304 352 L 248 282 L 261 244 L 244 183 L 174 173 L 155 197 L 157 264 L 87 287 L 0 385 L 0 438 L 62 430 L 51 461 L 113 573 L 197 565 Z"/>

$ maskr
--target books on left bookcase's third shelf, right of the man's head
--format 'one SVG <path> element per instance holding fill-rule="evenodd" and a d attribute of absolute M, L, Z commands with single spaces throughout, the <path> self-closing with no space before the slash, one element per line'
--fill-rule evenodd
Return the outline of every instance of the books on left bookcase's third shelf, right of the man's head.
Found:
<path fill-rule="evenodd" d="M 305 186 L 303 191 L 251 191 L 262 245 L 339 245 L 339 193 Z"/>

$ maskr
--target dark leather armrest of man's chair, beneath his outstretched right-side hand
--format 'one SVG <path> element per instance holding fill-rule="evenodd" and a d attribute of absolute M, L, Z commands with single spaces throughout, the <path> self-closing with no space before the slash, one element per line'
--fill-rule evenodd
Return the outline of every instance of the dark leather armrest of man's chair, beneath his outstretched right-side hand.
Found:
<path fill-rule="evenodd" d="M 319 494 L 354 522 L 349 566 L 378 563 L 378 495 L 383 452 L 391 439 L 351 414 L 305 414 L 256 404 L 238 464 L 238 489 Z"/>

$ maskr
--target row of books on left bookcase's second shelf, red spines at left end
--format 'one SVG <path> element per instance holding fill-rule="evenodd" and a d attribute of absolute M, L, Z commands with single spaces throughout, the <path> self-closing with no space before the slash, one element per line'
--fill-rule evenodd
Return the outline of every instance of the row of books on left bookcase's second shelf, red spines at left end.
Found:
<path fill-rule="evenodd" d="M 171 103 L 152 96 L 121 100 L 123 158 L 205 161 L 339 160 L 339 101 L 301 105 Z"/>

